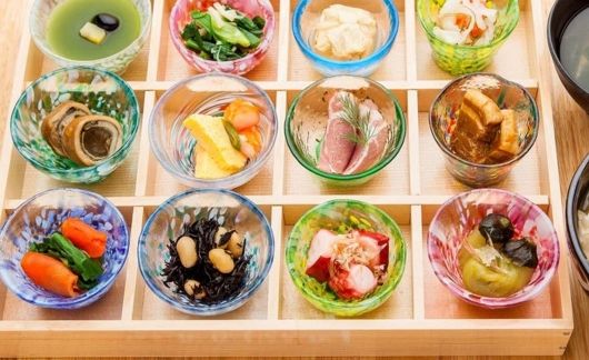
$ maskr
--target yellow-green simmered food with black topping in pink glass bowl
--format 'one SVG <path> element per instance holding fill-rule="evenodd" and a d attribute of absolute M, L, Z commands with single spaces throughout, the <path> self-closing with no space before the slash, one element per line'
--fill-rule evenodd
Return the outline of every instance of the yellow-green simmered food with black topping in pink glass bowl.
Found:
<path fill-rule="evenodd" d="M 530 282 L 538 253 L 532 239 L 517 238 L 507 217 L 491 213 L 463 240 L 458 260 L 467 290 L 505 298 Z"/>

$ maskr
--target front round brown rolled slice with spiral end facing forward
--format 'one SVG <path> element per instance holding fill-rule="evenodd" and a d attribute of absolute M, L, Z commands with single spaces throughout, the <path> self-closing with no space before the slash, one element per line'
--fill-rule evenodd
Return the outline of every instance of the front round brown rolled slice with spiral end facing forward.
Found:
<path fill-rule="evenodd" d="M 90 167 L 121 147 L 122 128 L 110 117 L 79 117 L 66 127 L 62 143 L 68 158 L 80 166 Z"/>

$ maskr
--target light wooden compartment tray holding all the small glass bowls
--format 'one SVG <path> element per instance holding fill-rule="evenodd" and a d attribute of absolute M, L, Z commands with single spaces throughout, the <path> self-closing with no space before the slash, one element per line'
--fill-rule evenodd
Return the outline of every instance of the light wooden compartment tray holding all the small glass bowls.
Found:
<path fill-rule="evenodd" d="M 296 1 L 272 3 L 277 36 L 268 58 L 248 77 L 269 92 L 282 127 L 293 97 L 320 76 L 303 59 L 291 36 Z M 500 187 L 522 193 L 551 216 L 562 257 L 557 276 L 539 298 L 499 311 L 481 310 L 455 298 L 428 263 L 425 234 L 433 212 L 467 188 L 446 172 L 427 122 L 433 97 L 451 77 L 431 60 L 426 36 L 417 23 L 415 0 L 396 3 L 399 34 L 373 78 L 393 90 L 406 111 L 408 133 L 402 151 L 377 178 L 350 194 L 321 186 L 300 167 L 286 148 L 280 129 L 273 159 L 238 189 L 260 204 L 271 220 L 277 239 L 274 266 L 243 308 L 201 319 L 158 300 L 144 287 L 136 258 L 147 217 L 166 198 L 184 189 L 151 154 L 147 118 L 166 89 L 193 74 L 169 39 L 168 17 L 173 1 L 153 0 L 151 39 L 124 74 L 141 101 L 141 132 L 121 169 L 99 184 L 83 187 L 109 197 L 124 214 L 131 229 L 126 271 L 101 301 L 79 311 L 37 309 L 0 286 L 0 356 L 562 354 L 572 330 L 572 310 L 540 1 L 520 1 L 518 28 L 487 70 L 522 83 L 538 101 L 538 141 Z M 28 82 L 56 67 L 24 29 L 12 99 Z M 70 186 L 26 163 L 13 149 L 9 131 L 1 159 L 2 218 L 41 190 Z M 406 273 L 397 291 L 385 306 L 360 319 L 335 319 L 315 310 L 297 293 L 283 266 L 283 239 L 291 226 L 307 209 L 333 198 L 380 206 L 401 224 L 409 244 Z"/>

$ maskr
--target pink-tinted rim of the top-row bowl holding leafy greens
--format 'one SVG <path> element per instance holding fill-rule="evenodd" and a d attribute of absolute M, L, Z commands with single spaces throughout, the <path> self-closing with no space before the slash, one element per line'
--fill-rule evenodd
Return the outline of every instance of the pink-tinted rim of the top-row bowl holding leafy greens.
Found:
<path fill-rule="evenodd" d="M 266 8 L 271 10 L 271 11 L 269 11 L 270 12 L 270 17 L 268 17 L 268 20 L 270 20 L 270 21 L 267 21 L 267 23 L 264 26 L 264 29 L 268 29 L 268 30 L 266 31 L 266 33 L 264 33 L 264 36 L 262 38 L 262 41 L 260 42 L 260 44 L 252 52 L 249 52 L 243 58 L 239 58 L 239 59 L 236 59 L 236 60 L 226 60 L 226 61 L 214 61 L 214 60 L 202 59 L 196 52 L 194 52 L 194 56 L 196 56 L 194 59 L 192 59 L 192 58 L 191 59 L 187 59 L 187 57 L 184 54 L 184 51 L 189 51 L 189 52 L 193 52 L 193 51 L 188 49 L 184 46 L 184 43 L 181 42 L 178 37 L 176 37 L 176 31 L 178 29 L 177 29 L 177 23 L 174 21 L 172 21 L 172 19 L 176 16 L 176 13 L 178 11 L 180 11 L 180 4 L 182 2 L 182 1 L 176 1 L 176 3 L 173 4 L 173 7 L 172 7 L 172 9 L 170 11 L 170 16 L 168 18 L 168 29 L 169 29 L 169 32 L 170 32 L 170 38 L 172 39 L 172 42 L 173 42 L 176 49 L 178 50 L 178 52 L 180 53 L 180 56 L 182 57 L 182 59 L 184 59 L 193 68 L 196 68 L 196 64 L 192 62 L 192 60 L 194 60 L 194 62 L 198 61 L 198 62 L 200 62 L 202 64 L 207 64 L 209 67 L 214 67 L 214 66 L 219 66 L 219 64 L 234 64 L 234 63 L 247 62 L 250 59 L 258 57 L 260 53 L 267 52 L 268 49 L 270 48 L 270 44 L 272 43 L 273 38 L 274 38 L 274 27 L 276 27 L 274 8 L 272 7 L 272 3 L 269 0 L 257 0 L 257 1 L 258 2 L 263 2 L 263 7 L 266 7 Z M 181 33 L 181 31 L 179 31 L 179 33 Z M 207 72 L 204 72 L 204 73 L 207 73 Z"/>

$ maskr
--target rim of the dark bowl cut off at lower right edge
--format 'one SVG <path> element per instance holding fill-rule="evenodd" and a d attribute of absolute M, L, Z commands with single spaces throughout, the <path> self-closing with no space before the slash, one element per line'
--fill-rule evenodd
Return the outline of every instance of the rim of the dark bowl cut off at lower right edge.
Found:
<path fill-rule="evenodd" d="M 575 221 L 576 218 L 576 211 L 578 210 L 578 197 L 581 196 L 581 189 L 579 187 L 579 180 L 581 179 L 583 172 L 588 170 L 589 167 L 589 153 L 585 157 L 585 159 L 581 161 L 577 170 L 575 171 L 575 174 L 572 176 L 572 179 L 570 180 L 569 190 L 567 192 L 567 206 L 566 206 L 566 218 L 567 218 L 567 232 L 569 236 L 569 250 L 572 252 L 575 258 L 572 259 L 578 260 L 581 264 L 581 268 L 585 270 L 585 274 L 589 277 L 589 259 L 585 254 L 585 252 L 581 249 L 580 246 L 580 239 L 577 232 L 577 221 Z M 587 194 L 586 194 L 587 196 Z"/>

